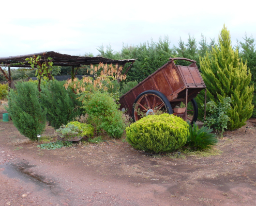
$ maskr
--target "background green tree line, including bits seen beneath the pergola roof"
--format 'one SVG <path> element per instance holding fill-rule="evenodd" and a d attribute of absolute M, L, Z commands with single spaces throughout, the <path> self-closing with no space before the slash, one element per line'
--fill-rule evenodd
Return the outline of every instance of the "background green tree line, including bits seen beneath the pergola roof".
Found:
<path fill-rule="evenodd" d="M 169 61 L 172 57 L 183 57 L 197 61 L 199 70 L 201 71 L 202 63 L 200 59 L 205 58 L 207 55 L 213 55 L 213 50 L 221 44 L 220 38 L 215 41 L 215 39 L 210 39 L 207 42 L 206 37 L 201 35 L 201 39 L 197 41 L 190 34 L 188 39 L 183 41 L 182 38 L 179 39 L 178 45 L 171 46 L 171 41 L 168 36 L 159 38 L 158 41 L 147 41 L 140 43 L 138 45 L 125 45 L 119 51 L 114 51 L 111 45 L 107 45 L 106 48 L 102 45 L 99 46 L 97 56 L 102 56 L 110 59 L 137 59 L 129 72 L 127 73 L 127 82 L 137 81 L 140 82 L 145 79 L 150 74 L 154 73 L 159 67 Z M 256 50 L 254 38 L 252 36 L 248 37 L 245 34 L 243 41 L 237 41 L 234 46 L 231 46 L 229 42 L 229 53 L 231 50 L 237 53 L 235 58 L 240 58 L 243 64 L 247 65 L 247 74 L 251 73 L 250 85 L 253 85 L 255 94 L 256 85 Z M 230 50 L 231 49 L 231 50 Z M 91 53 L 84 54 L 83 56 L 93 56 Z M 188 62 L 179 62 L 176 64 L 187 64 Z M 129 66 L 129 65 L 126 65 Z M 56 67 L 53 72 L 56 75 L 70 75 L 70 67 Z M 81 67 L 78 70 L 78 75 L 86 75 L 86 67 Z M 19 68 L 18 70 L 11 70 L 12 80 L 25 79 L 27 77 L 34 77 L 35 70 Z M 207 75 L 205 75 L 207 77 Z M 226 76 L 225 78 L 229 78 Z M 5 78 L 0 74 L 0 81 L 4 81 Z M 243 81 L 242 81 L 243 82 Z M 241 83 L 241 82 L 240 82 Z M 236 85 L 238 86 L 238 85 Z M 121 85 L 122 87 L 122 85 Z M 256 95 L 253 96 L 252 104 L 256 106 Z M 256 109 L 254 108 L 252 117 L 256 117 Z"/>

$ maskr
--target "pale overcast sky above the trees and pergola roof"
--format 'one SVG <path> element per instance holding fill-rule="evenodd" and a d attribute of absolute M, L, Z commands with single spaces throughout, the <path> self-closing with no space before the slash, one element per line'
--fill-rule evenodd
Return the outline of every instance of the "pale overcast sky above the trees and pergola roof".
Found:
<path fill-rule="evenodd" d="M 218 39 L 223 24 L 232 44 L 256 38 L 253 1 L 2 1 L 0 57 L 54 51 L 93 53 L 111 44 L 138 45 L 169 36 L 171 47 L 188 33 Z"/>

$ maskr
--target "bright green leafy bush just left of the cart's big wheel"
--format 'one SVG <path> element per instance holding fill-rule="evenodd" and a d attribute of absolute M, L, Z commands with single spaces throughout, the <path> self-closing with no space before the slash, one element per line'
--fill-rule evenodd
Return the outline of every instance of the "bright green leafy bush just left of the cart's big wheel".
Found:
<path fill-rule="evenodd" d="M 85 99 L 83 104 L 89 123 L 113 138 L 121 138 L 125 129 L 122 112 L 109 93 L 97 91 L 91 98 Z"/>

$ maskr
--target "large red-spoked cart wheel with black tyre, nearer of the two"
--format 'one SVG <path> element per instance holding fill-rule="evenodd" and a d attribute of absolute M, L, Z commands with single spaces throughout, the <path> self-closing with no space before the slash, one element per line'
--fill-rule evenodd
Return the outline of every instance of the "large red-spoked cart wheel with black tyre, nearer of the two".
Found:
<path fill-rule="evenodd" d="M 163 93 L 156 90 L 142 92 L 134 101 L 132 107 L 133 122 L 150 114 L 172 114 L 172 106 Z"/>

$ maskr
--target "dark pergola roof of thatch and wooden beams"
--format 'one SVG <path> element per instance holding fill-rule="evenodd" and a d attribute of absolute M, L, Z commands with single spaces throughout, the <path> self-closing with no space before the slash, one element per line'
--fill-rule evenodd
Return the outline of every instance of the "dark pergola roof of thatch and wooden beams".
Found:
<path fill-rule="evenodd" d="M 133 62 L 136 59 L 123 59 L 123 60 L 113 60 L 107 59 L 104 57 L 81 57 L 81 56 L 71 56 L 66 54 L 59 54 L 56 52 L 40 52 L 35 54 L 28 55 L 18 55 L 18 56 L 10 56 L 10 57 L 0 57 L 0 71 L 4 74 L 5 78 L 8 81 L 9 87 L 11 84 L 11 67 L 31 67 L 25 59 L 34 56 L 41 56 L 40 63 L 47 61 L 48 57 L 52 58 L 52 62 L 54 66 L 72 66 L 72 72 L 74 72 L 74 67 L 78 68 L 81 65 L 91 65 L 91 64 L 118 64 L 119 66 L 125 66 L 126 63 L 131 63 L 124 74 L 127 74 L 128 70 L 132 66 Z M 8 67 L 8 76 L 1 66 Z"/>

